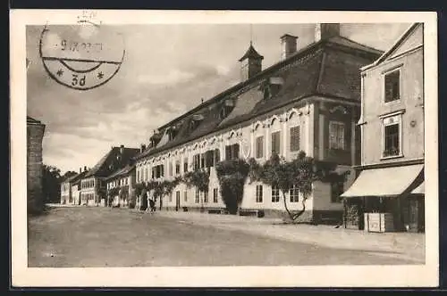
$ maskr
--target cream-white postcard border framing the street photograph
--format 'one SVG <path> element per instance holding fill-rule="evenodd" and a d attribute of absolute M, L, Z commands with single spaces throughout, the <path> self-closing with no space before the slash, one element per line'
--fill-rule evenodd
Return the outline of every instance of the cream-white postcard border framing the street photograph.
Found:
<path fill-rule="evenodd" d="M 80 10 L 12 10 L 11 216 L 15 287 L 417 287 L 439 284 L 437 24 L 435 12 L 105 11 L 103 24 L 423 22 L 425 30 L 426 265 L 311 267 L 27 267 L 25 26 L 76 23 Z M 143 275 L 144 276 L 140 276 Z"/>

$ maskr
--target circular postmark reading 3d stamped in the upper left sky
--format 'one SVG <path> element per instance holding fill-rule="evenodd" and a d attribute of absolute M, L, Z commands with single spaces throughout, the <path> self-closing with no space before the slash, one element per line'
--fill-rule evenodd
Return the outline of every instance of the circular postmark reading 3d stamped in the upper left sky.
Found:
<path fill-rule="evenodd" d="M 113 26 L 51 25 L 42 31 L 39 53 L 46 72 L 57 83 L 88 90 L 114 77 L 125 50 Z"/>

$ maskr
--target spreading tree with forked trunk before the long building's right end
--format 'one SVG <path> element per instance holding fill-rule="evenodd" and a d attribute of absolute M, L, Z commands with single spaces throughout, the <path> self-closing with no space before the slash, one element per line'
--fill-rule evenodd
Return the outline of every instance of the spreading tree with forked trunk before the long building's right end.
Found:
<path fill-rule="evenodd" d="M 312 193 L 312 185 L 316 181 L 333 182 L 335 180 L 344 180 L 345 174 L 338 174 L 334 171 L 336 163 L 314 160 L 306 155 L 305 152 L 299 152 L 295 160 L 285 161 L 278 154 L 273 154 L 270 160 L 264 165 L 257 164 L 256 160 L 249 160 L 250 181 L 262 181 L 266 185 L 277 187 L 283 194 L 284 208 L 291 218 L 295 221 L 306 211 L 306 201 Z M 291 212 L 287 206 L 286 193 L 290 192 L 295 186 L 302 194 L 302 209 L 298 212 Z"/>

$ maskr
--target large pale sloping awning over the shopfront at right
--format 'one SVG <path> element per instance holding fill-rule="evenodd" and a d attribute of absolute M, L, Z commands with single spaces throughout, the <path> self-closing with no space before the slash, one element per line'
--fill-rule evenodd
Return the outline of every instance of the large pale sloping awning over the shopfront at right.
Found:
<path fill-rule="evenodd" d="M 424 165 L 410 165 L 384 169 L 366 169 L 360 172 L 342 198 L 361 196 L 398 196 L 424 173 Z"/>

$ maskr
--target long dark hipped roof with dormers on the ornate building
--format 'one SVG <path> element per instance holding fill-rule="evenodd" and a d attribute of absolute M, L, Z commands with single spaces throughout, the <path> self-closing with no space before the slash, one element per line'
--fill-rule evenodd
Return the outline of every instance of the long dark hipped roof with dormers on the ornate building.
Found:
<path fill-rule="evenodd" d="M 359 69 L 375 61 L 381 53 L 383 52 L 338 36 L 308 45 L 289 58 L 224 90 L 163 127 L 159 127 L 158 129 L 162 131 L 181 122 L 180 130 L 173 140 L 148 149 L 136 158 L 144 158 L 186 144 L 219 129 L 232 127 L 313 95 L 359 103 Z M 273 77 L 281 78 L 278 80 L 283 81 L 283 86 L 273 97 L 264 99 L 259 87 L 267 78 Z M 226 118 L 221 119 L 219 112 L 222 103 L 229 98 L 235 99 L 235 106 Z M 204 119 L 191 131 L 189 122 L 192 116 L 198 113 L 203 114 Z"/>

